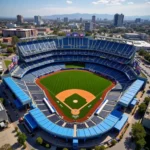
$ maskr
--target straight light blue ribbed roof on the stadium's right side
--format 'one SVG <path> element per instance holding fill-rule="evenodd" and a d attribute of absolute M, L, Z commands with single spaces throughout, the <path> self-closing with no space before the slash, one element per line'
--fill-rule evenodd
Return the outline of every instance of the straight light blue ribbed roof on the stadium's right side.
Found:
<path fill-rule="evenodd" d="M 144 81 L 142 80 L 136 80 L 123 94 L 123 96 L 120 98 L 119 103 L 122 106 L 128 107 L 133 98 L 136 96 L 138 91 L 142 88 L 144 84 Z"/>

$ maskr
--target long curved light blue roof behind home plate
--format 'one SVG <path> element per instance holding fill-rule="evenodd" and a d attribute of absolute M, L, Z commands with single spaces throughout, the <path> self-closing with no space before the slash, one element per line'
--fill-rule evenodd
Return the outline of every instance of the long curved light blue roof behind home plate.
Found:
<path fill-rule="evenodd" d="M 43 130 L 63 138 L 91 138 L 102 135 L 111 130 L 122 117 L 122 112 L 114 110 L 101 123 L 90 128 L 78 129 L 77 135 L 74 136 L 74 129 L 61 127 L 51 122 L 39 108 L 30 110 L 29 114 Z"/>

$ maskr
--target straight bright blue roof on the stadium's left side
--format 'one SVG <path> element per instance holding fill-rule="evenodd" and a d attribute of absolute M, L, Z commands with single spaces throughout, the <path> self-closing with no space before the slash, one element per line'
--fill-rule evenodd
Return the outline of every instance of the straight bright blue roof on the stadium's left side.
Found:
<path fill-rule="evenodd" d="M 31 103 L 31 98 L 16 84 L 11 77 L 3 79 L 22 105 Z"/>

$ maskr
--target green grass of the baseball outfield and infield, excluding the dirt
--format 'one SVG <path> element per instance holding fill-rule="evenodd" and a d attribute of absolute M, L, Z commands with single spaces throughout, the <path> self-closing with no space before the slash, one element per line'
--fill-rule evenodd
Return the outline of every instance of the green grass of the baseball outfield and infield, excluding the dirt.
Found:
<path fill-rule="evenodd" d="M 92 93 L 96 97 L 95 100 L 81 110 L 81 113 L 77 117 L 77 119 L 80 119 L 89 112 L 98 100 L 100 100 L 103 91 L 111 84 L 111 81 L 96 74 L 77 70 L 63 71 L 43 78 L 40 82 L 47 88 L 50 95 L 57 102 L 64 114 L 71 119 L 74 119 L 74 117 L 72 116 L 70 109 L 55 97 L 58 93 L 68 89 L 82 89 Z M 73 100 L 78 100 L 78 103 L 73 103 Z M 78 109 L 85 105 L 86 101 L 83 97 L 74 94 L 67 98 L 65 103 L 73 109 Z"/>

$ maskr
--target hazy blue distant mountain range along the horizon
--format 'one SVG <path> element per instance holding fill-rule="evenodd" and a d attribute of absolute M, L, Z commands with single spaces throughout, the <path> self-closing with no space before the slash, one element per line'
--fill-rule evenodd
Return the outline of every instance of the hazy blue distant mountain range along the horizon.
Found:
<path fill-rule="evenodd" d="M 114 15 L 110 15 L 110 14 L 80 14 L 80 13 L 75 13 L 75 14 L 62 14 L 62 15 L 51 15 L 51 16 L 43 16 L 43 18 L 45 19 L 56 19 L 56 18 L 60 18 L 63 19 L 64 17 L 68 17 L 69 19 L 91 19 L 91 17 L 95 15 L 96 18 L 99 19 L 108 19 L 108 20 L 112 20 Z M 150 15 L 147 16 L 125 16 L 125 20 L 135 20 L 136 18 L 141 18 L 144 20 L 150 20 Z"/>

